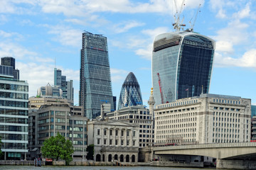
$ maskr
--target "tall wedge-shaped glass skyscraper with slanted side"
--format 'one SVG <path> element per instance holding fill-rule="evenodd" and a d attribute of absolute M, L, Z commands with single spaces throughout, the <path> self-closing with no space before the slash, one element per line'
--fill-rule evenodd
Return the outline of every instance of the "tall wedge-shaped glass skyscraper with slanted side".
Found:
<path fill-rule="evenodd" d="M 107 38 L 102 35 L 82 33 L 79 103 L 87 118 L 100 115 L 102 103 L 114 109 Z"/>

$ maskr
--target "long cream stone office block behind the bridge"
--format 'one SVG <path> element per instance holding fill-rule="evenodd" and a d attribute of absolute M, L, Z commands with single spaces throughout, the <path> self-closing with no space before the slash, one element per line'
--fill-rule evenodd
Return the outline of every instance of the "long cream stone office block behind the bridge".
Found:
<path fill-rule="evenodd" d="M 251 100 L 201 94 L 156 106 L 157 145 L 250 142 Z"/>

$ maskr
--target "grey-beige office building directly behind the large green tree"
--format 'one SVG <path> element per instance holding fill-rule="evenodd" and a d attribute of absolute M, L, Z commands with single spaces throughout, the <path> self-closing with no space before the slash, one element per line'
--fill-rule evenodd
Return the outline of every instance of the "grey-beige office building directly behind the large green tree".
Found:
<path fill-rule="evenodd" d="M 65 99 L 66 100 L 66 99 Z M 73 142 L 73 159 L 86 160 L 87 118 L 81 106 L 66 101 L 46 101 L 38 110 L 29 111 L 28 158 L 41 157 L 41 146 L 51 136 L 63 135 Z"/>

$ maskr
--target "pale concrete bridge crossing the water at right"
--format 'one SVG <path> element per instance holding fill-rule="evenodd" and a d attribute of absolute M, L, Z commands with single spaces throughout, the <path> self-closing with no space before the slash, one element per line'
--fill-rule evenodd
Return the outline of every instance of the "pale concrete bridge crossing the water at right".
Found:
<path fill-rule="evenodd" d="M 154 147 L 154 154 L 213 157 L 217 169 L 256 169 L 256 142 Z"/>

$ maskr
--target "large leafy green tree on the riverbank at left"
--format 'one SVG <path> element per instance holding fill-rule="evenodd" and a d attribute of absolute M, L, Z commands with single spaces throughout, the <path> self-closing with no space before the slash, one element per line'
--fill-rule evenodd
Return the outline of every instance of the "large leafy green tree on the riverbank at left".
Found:
<path fill-rule="evenodd" d="M 70 140 L 65 140 L 65 137 L 59 133 L 55 137 L 50 137 L 48 140 L 43 142 L 41 147 L 43 157 L 65 160 L 65 164 L 68 165 L 72 160 L 72 154 L 74 152 L 73 144 Z"/>

